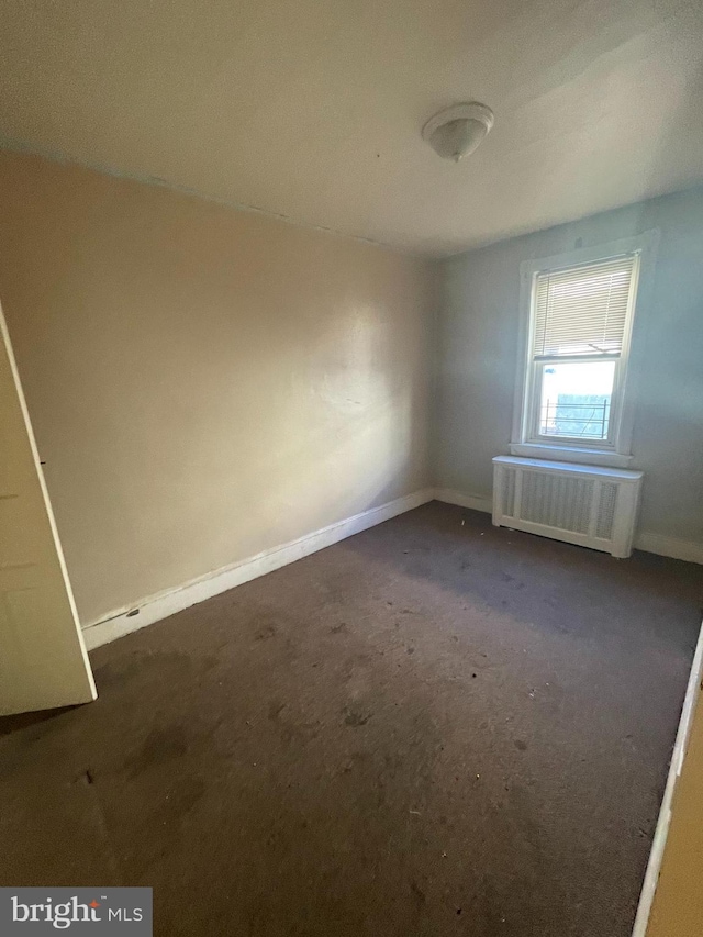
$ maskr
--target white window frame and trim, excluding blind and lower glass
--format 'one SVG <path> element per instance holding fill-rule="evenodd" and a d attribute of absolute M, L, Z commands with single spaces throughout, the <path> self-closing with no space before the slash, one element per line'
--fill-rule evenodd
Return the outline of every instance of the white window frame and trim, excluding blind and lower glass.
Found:
<path fill-rule="evenodd" d="M 635 422 L 635 379 L 641 360 L 644 310 L 649 306 L 652 268 L 659 241 L 658 231 L 648 231 L 637 237 L 580 248 L 521 264 L 520 290 L 520 357 L 516 371 L 513 432 L 510 450 L 513 456 L 556 459 L 627 468 L 632 460 L 632 439 Z M 568 436 L 545 436 L 538 433 L 540 382 L 544 361 L 534 361 L 532 355 L 535 328 L 534 298 L 537 275 L 567 267 L 579 267 L 634 254 L 634 285 L 625 323 L 623 350 L 615 364 L 615 379 L 611 398 L 611 419 L 607 439 L 574 439 Z M 607 356 L 594 355 L 566 361 L 603 361 Z"/>

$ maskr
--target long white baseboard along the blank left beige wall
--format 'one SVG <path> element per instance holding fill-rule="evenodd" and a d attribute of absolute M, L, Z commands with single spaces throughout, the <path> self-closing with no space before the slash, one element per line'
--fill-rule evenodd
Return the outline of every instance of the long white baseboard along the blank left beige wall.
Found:
<path fill-rule="evenodd" d="M 205 599 L 234 589 L 235 585 L 265 576 L 267 572 L 272 572 L 275 569 L 288 566 L 297 559 L 302 559 L 324 547 L 344 540 L 346 537 L 366 531 L 368 527 L 389 521 L 398 514 L 412 511 L 413 507 L 419 507 L 421 504 L 432 501 L 433 498 L 432 489 L 415 491 L 404 498 L 397 498 L 394 501 L 381 504 L 379 507 L 362 511 L 345 521 L 330 524 L 327 527 L 314 531 L 297 540 L 264 550 L 232 566 L 216 569 L 176 589 L 149 595 L 133 605 L 118 609 L 97 622 L 83 625 L 86 647 L 88 650 L 94 650 L 94 648 L 130 634 L 130 632 L 136 632 L 146 625 L 159 622 L 161 618 L 176 614 L 176 612 L 196 605 L 198 602 L 203 602 Z"/>

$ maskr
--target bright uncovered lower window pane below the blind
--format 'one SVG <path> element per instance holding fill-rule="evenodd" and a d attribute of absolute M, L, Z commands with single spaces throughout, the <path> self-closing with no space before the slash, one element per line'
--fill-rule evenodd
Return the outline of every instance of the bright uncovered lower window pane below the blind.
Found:
<path fill-rule="evenodd" d="M 543 366 L 540 436 L 607 439 L 615 361 Z"/>

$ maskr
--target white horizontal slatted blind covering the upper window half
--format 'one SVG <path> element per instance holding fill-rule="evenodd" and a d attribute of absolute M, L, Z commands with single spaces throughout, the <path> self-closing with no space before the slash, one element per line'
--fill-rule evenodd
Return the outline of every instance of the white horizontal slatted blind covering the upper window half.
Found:
<path fill-rule="evenodd" d="M 537 274 L 535 359 L 623 349 L 636 255 Z"/>

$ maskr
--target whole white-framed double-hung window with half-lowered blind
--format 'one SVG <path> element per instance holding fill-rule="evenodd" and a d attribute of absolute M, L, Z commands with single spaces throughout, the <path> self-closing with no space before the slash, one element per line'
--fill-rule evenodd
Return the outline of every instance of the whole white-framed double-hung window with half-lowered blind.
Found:
<path fill-rule="evenodd" d="M 650 239 L 523 265 L 514 455 L 627 465 L 631 336 Z"/>

